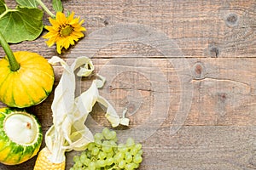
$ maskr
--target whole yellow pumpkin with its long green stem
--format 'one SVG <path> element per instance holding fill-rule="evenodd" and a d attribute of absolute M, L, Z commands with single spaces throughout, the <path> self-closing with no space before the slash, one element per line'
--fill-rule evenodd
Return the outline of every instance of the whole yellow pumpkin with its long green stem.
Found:
<path fill-rule="evenodd" d="M 7 54 L 0 60 L 0 100 L 10 107 L 38 105 L 52 91 L 54 71 L 43 56 L 26 51 L 12 53 L 1 37 Z"/>

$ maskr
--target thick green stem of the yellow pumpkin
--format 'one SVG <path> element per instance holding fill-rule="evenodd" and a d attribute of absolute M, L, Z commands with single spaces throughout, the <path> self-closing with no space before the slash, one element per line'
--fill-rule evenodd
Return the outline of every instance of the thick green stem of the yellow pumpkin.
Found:
<path fill-rule="evenodd" d="M 6 42 L 5 38 L 3 37 L 3 34 L 0 32 L 0 44 L 3 47 L 3 50 L 5 54 L 7 55 L 7 58 L 9 59 L 9 65 L 11 71 L 18 71 L 20 69 L 20 65 L 15 59 L 15 54 L 12 52 L 11 48 L 9 47 L 8 42 Z"/>

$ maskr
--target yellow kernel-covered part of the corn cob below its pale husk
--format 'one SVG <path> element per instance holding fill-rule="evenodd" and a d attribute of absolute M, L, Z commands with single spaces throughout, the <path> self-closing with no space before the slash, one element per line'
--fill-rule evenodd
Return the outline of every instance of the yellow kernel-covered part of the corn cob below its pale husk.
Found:
<path fill-rule="evenodd" d="M 34 170 L 65 170 L 65 161 L 54 163 L 48 159 L 48 156 L 50 156 L 50 152 L 45 147 L 38 154 Z"/>

